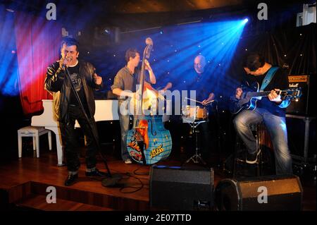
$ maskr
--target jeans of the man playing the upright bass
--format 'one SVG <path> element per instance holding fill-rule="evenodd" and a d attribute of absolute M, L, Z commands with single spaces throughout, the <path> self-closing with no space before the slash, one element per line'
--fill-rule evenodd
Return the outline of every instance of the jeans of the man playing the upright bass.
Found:
<path fill-rule="evenodd" d="M 121 157 L 123 161 L 126 159 L 131 159 L 130 154 L 128 152 L 127 147 L 127 135 L 130 125 L 130 115 L 122 115 L 120 114 L 120 106 L 123 104 L 123 101 L 119 100 L 118 102 L 118 114 L 119 114 L 119 120 L 120 120 L 120 131 L 121 131 Z M 128 109 L 127 107 L 125 107 Z"/>

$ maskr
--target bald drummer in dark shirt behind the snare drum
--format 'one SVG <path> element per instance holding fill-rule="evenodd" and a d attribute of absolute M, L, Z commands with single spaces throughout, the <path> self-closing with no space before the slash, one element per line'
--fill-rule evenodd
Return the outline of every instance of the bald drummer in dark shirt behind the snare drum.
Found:
<path fill-rule="evenodd" d="M 196 100 L 206 104 L 211 102 L 215 95 L 211 89 L 213 86 L 213 79 L 211 74 L 208 73 L 206 67 L 206 59 L 202 55 L 198 55 L 194 58 L 194 68 L 190 68 L 185 73 L 185 80 L 182 80 L 182 90 L 187 90 L 188 97 L 192 98 L 189 93 L 190 90 L 196 91 Z M 191 102 L 187 101 L 187 105 Z M 197 106 L 203 107 L 202 104 L 196 103 Z M 201 155 L 204 159 L 210 156 L 211 153 L 211 126 L 210 121 L 199 124 L 200 136 L 201 136 Z"/>

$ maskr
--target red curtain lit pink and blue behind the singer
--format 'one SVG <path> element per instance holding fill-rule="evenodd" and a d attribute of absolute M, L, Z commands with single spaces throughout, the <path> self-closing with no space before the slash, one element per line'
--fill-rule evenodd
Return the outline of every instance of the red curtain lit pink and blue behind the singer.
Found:
<path fill-rule="evenodd" d="M 54 20 L 23 12 L 15 16 L 20 100 L 25 115 L 42 111 L 42 99 L 51 99 L 44 90 L 46 68 L 58 59 L 61 27 Z"/>

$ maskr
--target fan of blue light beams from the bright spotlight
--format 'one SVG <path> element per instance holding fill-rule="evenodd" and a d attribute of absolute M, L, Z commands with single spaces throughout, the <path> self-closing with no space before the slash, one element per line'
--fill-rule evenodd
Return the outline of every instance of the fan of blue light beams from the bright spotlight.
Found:
<path fill-rule="evenodd" d="M 156 47 L 159 46 L 158 51 L 153 52 L 156 61 L 152 65 L 157 78 L 163 84 L 175 84 L 175 90 L 185 90 L 186 83 L 181 81 L 192 75 L 188 72 L 193 69 L 194 57 L 201 54 L 210 62 L 206 70 L 214 77 L 211 80 L 225 79 L 245 27 L 244 21 L 245 18 L 169 26 L 152 34 Z M 215 92 L 218 88 L 218 85 L 213 87 Z"/>

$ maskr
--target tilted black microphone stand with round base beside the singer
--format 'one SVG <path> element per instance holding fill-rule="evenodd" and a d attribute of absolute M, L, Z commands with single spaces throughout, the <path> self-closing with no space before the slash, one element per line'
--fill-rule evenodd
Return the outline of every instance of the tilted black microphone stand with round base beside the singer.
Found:
<path fill-rule="evenodd" d="M 106 166 L 106 170 L 107 170 L 107 173 L 108 173 L 108 178 L 104 178 L 104 180 L 101 181 L 102 185 L 103 186 L 106 186 L 106 187 L 113 187 L 113 186 L 116 186 L 116 183 L 118 181 L 120 181 L 120 179 L 123 177 L 122 175 L 120 174 L 111 174 L 110 172 L 110 169 L 108 167 L 108 164 L 106 162 L 106 159 L 104 158 L 104 156 L 101 154 L 101 147 L 100 147 L 100 144 L 99 144 L 99 141 L 97 139 L 97 129 L 94 129 L 94 127 L 92 126 L 92 123 L 90 122 L 88 116 L 87 116 L 87 113 L 84 109 L 84 106 L 82 105 L 82 101 L 80 100 L 80 97 L 75 89 L 75 85 L 73 84 L 72 80 L 70 79 L 70 74 L 69 74 L 69 71 L 68 71 L 68 68 L 67 66 L 65 66 L 65 71 L 66 71 L 66 77 L 68 78 L 69 82 L 70 82 L 70 87 L 77 99 L 77 102 L 78 104 L 80 105 L 80 109 L 82 110 L 82 113 L 84 114 L 86 120 L 87 120 L 87 123 L 89 124 L 89 128 L 90 130 L 92 130 L 92 136 L 94 138 L 94 142 L 97 146 L 97 149 L 98 149 L 98 152 L 101 156 L 101 159 L 103 160 L 104 162 L 104 165 Z M 97 127 L 96 127 L 97 128 Z"/>

